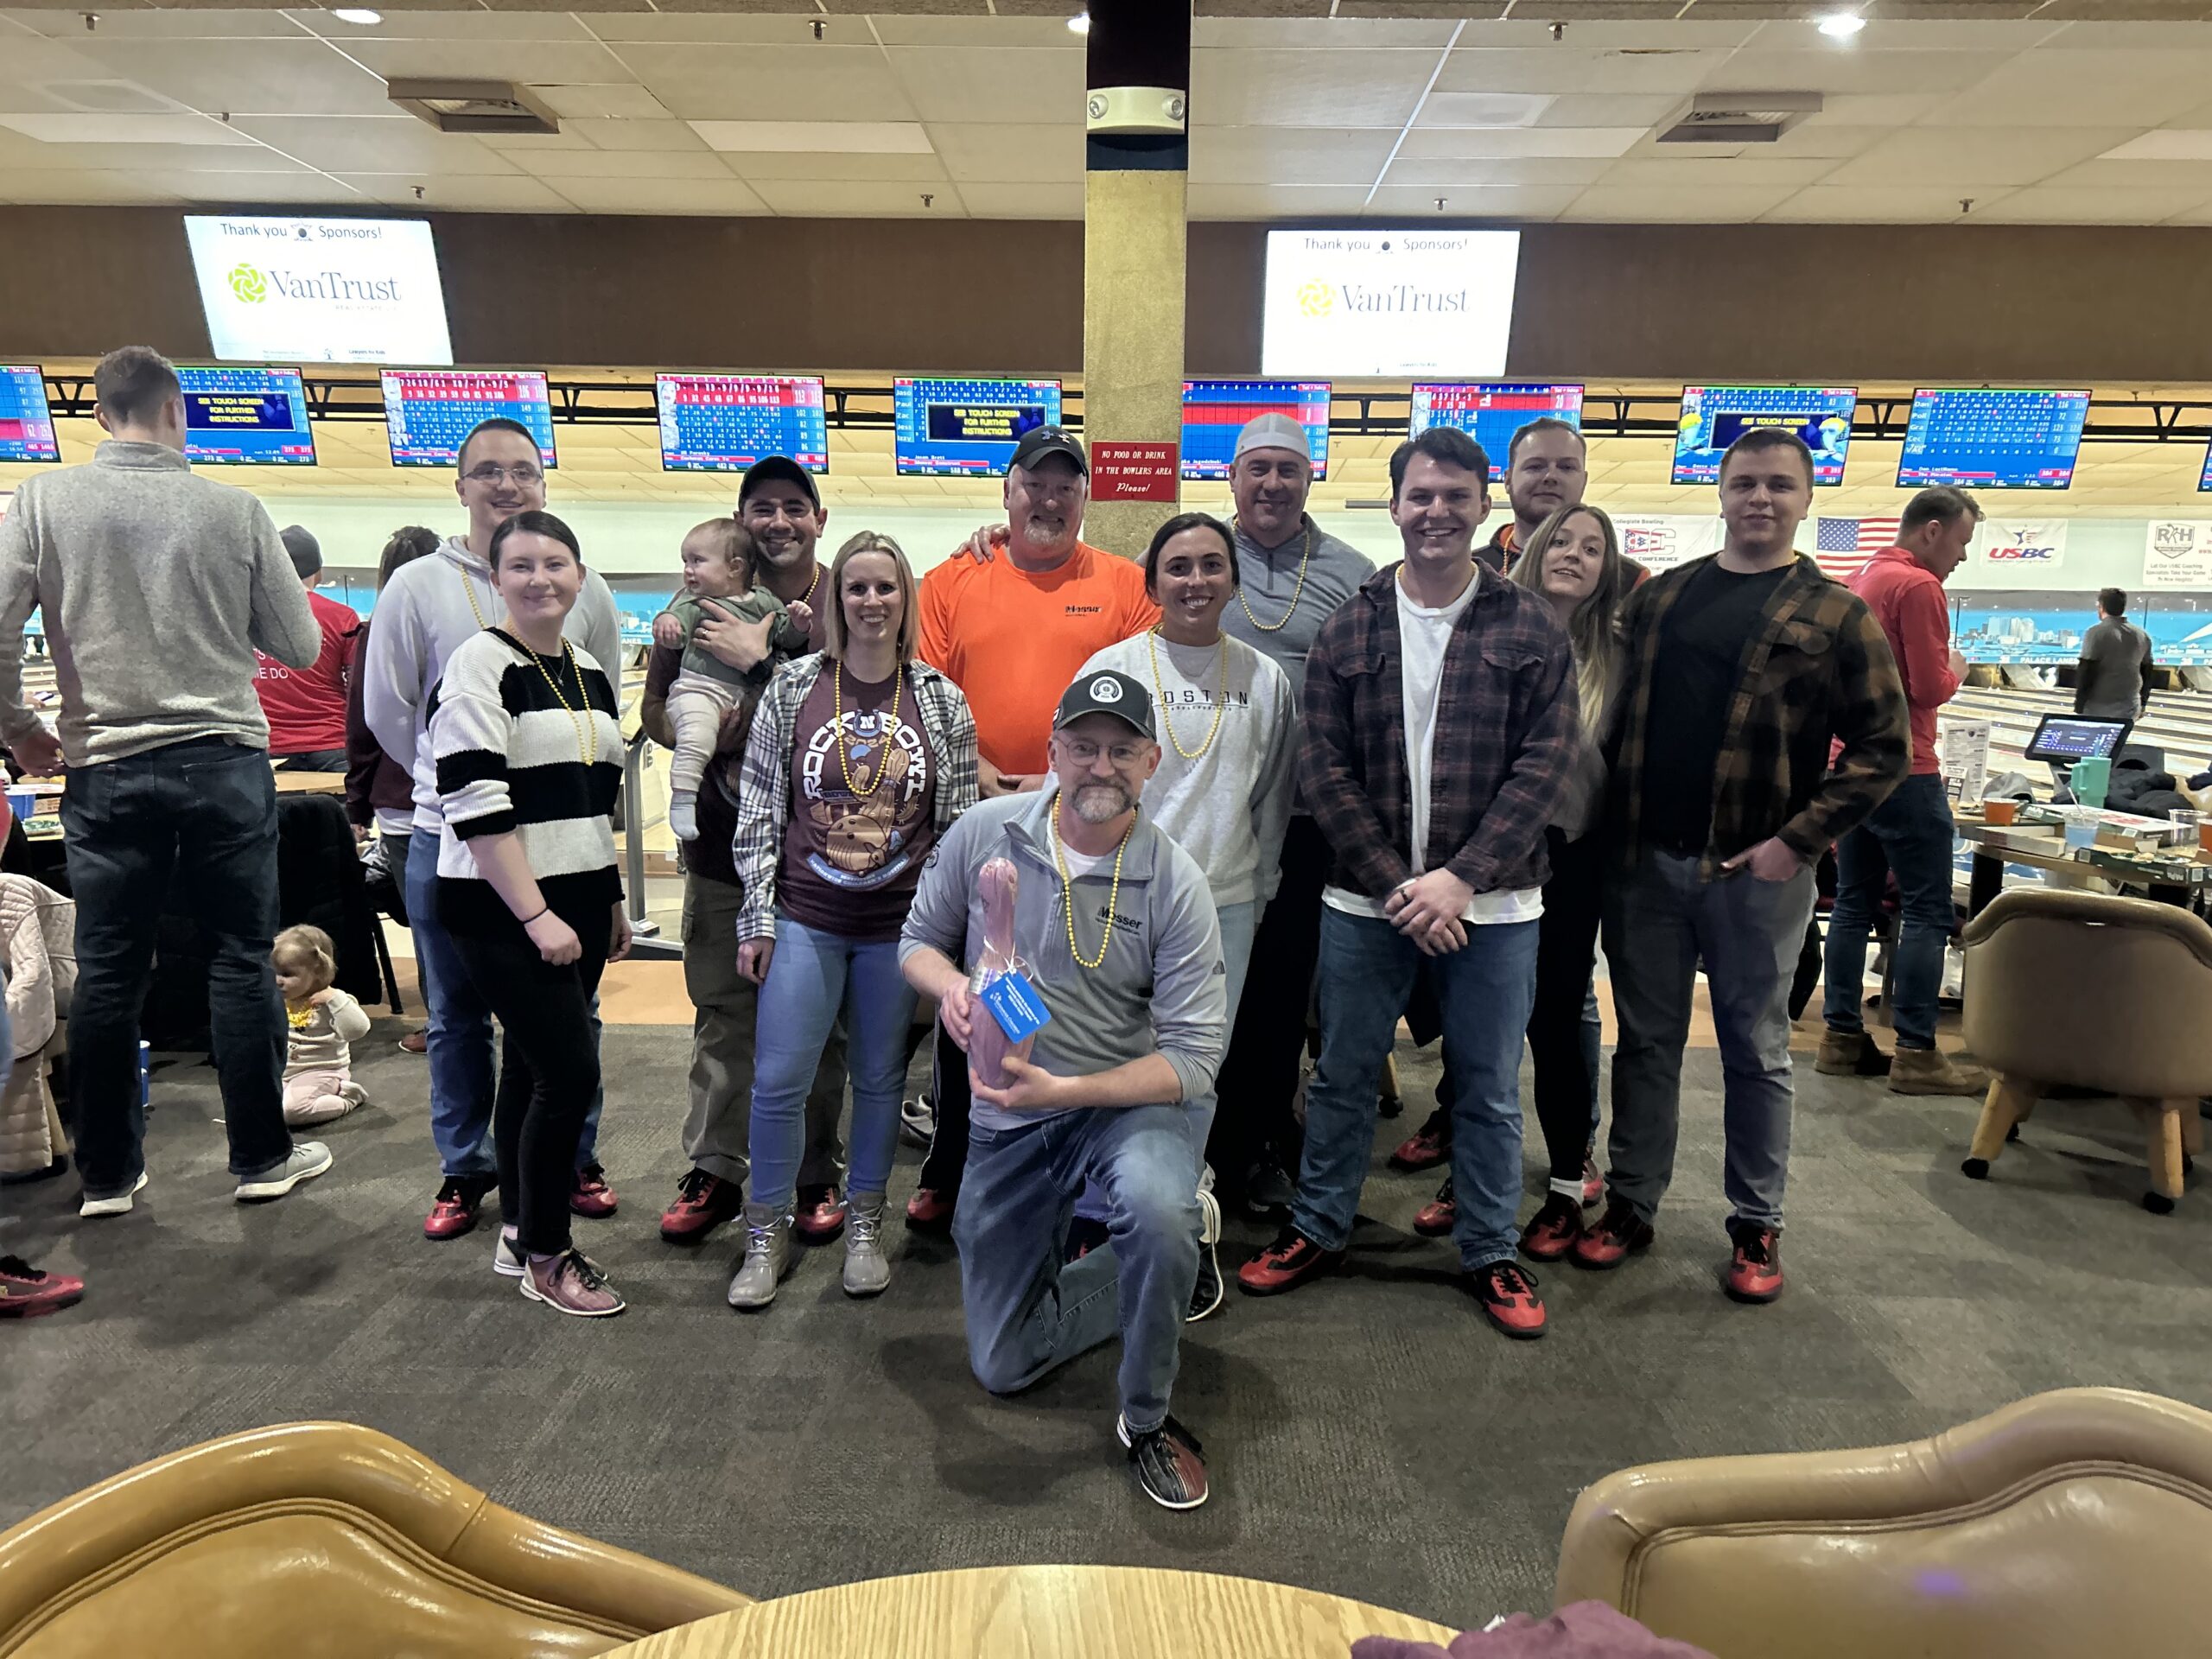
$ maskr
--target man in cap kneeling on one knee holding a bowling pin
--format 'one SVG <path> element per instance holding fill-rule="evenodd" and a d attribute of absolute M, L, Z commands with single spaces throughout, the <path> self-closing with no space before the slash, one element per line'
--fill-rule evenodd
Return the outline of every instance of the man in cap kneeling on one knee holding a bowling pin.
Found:
<path fill-rule="evenodd" d="M 1155 1502 L 1194 1509 L 1206 1464 L 1168 1394 L 1199 1274 L 1206 1130 L 1190 1102 L 1212 1088 L 1228 1026 L 1221 927 L 1206 872 L 1137 810 L 1159 765 L 1144 686 L 1082 675 L 1053 714 L 1051 761 L 1057 787 L 984 801 L 947 832 L 898 947 L 971 1051 L 995 1015 L 951 956 L 984 960 L 980 872 L 1013 863 L 1013 945 L 1051 1018 L 1029 1060 L 1006 1060 L 1004 1088 L 969 1066 L 953 1223 L 969 1363 L 1011 1394 L 1119 1332 L 1128 1460 Z M 1088 1181 L 1113 1243 L 1062 1263 Z"/>

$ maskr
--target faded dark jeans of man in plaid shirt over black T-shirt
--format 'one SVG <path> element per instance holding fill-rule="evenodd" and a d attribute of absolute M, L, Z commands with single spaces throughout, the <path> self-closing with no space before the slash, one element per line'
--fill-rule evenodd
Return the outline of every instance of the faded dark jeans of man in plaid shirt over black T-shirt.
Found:
<path fill-rule="evenodd" d="M 1657 847 L 1606 883 L 1613 969 L 1613 1133 L 1606 1183 L 1650 1221 L 1674 1179 L 1681 1051 L 1699 958 L 1721 1042 L 1725 1190 L 1734 1221 L 1781 1228 L 1790 1179 L 1790 978 L 1812 920 L 1814 874 L 1703 880 L 1697 858 Z"/>

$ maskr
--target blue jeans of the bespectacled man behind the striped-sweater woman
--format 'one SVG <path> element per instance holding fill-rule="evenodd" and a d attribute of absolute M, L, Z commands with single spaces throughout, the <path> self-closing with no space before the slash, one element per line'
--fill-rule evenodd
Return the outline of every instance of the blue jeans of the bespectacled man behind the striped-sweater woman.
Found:
<path fill-rule="evenodd" d="M 407 929 L 416 942 L 416 971 L 429 1006 L 429 1137 L 449 1181 L 498 1179 L 491 1146 L 491 1004 L 469 980 L 469 964 L 438 920 L 438 832 L 407 838 Z M 599 1051 L 599 998 L 591 998 L 591 1048 Z M 575 1166 L 597 1159 L 599 1110 L 606 1091 L 591 1097 Z"/>

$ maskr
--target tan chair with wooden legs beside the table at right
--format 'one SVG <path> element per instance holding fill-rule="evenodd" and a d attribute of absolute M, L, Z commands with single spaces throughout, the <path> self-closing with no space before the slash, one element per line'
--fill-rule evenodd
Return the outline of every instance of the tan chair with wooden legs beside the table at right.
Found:
<path fill-rule="evenodd" d="M 2024 887 L 1964 938 L 1964 1035 L 1993 1082 L 1960 1168 L 1986 1179 L 2042 1091 L 2073 1084 L 2143 1117 L 2143 1208 L 2172 1210 L 2203 1150 L 2197 1097 L 2212 1095 L 2212 927 L 2148 898 Z"/>

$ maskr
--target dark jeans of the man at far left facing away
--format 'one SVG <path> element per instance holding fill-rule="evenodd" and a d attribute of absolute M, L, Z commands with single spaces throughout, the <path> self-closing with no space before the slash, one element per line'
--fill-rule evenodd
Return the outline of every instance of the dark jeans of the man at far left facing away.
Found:
<path fill-rule="evenodd" d="M 137 1044 L 155 931 L 175 896 L 208 938 L 208 1046 L 230 1172 L 292 1157 L 283 1126 L 285 1018 L 276 938 L 276 783 L 263 750 L 217 737 L 82 765 L 62 796 L 77 898 L 69 1079 L 84 1197 L 128 1192 L 146 1168 Z"/>

